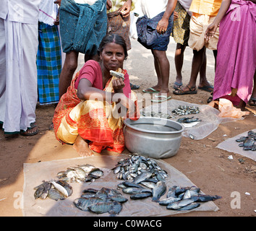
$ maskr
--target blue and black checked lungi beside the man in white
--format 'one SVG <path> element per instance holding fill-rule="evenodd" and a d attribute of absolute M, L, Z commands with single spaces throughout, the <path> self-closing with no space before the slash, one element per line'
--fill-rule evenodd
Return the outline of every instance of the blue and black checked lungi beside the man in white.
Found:
<path fill-rule="evenodd" d="M 59 102 L 61 74 L 61 43 L 56 25 L 38 23 L 38 101 L 40 104 Z"/>

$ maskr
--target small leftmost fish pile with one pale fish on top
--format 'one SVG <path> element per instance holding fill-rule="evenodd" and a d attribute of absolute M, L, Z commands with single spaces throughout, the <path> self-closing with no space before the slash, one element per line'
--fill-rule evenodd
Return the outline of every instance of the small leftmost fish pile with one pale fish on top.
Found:
<path fill-rule="evenodd" d="M 35 199 L 46 199 L 46 197 L 55 201 L 64 200 L 73 193 L 72 186 L 64 180 L 58 181 L 45 181 L 35 188 L 34 197 Z"/>

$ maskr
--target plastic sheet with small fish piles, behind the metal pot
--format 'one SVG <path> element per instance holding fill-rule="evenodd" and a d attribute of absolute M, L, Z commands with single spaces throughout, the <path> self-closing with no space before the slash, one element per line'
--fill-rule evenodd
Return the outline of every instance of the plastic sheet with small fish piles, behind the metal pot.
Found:
<path fill-rule="evenodd" d="M 198 107 L 200 109 L 200 113 L 181 115 L 181 116 L 173 115 L 171 111 L 179 107 L 179 105 Z M 191 134 L 197 140 L 204 139 L 206 136 L 211 134 L 213 131 L 215 131 L 218 128 L 218 125 L 220 123 L 227 123 L 227 122 L 239 120 L 237 118 L 221 118 L 218 116 L 220 111 L 209 105 L 198 105 L 195 103 L 187 103 L 180 100 L 168 100 L 161 104 L 148 105 L 143 110 L 145 111 L 145 113 L 151 113 L 151 112 L 158 113 L 158 111 L 161 111 L 162 113 L 168 113 L 169 115 L 171 115 L 170 120 L 172 121 L 177 121 L 177 119 L 184 118 L 184 117 L 191 118 L 192 116 L 194 116 L 194 118 L 199 118 L 201 122 L 197 123 L 195 126 L 192 126 L 192 127 L 189 127 L 189 123 L 187 124 L 182 123 L 185 126 L 185 130 L 182 132 L 182 136 L 189 137 Z M 142 115 L 142 110 L 140 111 L 140 113 Z M 172 117 L 175 117 L 175 118 L 172 118 Z M 244 118 L 241 118 L 241 119 L 244 119 Z"/>

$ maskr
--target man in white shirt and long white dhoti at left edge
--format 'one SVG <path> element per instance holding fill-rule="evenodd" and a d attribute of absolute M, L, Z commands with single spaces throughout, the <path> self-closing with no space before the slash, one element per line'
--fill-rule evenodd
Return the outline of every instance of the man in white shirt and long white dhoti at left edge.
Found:
<path fill-rule="evenodd" d="M 0 123 L 7 135 L 38 134 L 35 106 L 40 1 L 1 1 Z"/>

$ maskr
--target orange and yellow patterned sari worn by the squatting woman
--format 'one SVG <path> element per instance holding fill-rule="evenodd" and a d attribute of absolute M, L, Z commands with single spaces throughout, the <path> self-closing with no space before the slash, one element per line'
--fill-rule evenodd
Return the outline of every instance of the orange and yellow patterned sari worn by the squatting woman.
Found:
<path fill-rule="evenodd" d="M 123 70 L 123 73 L 126 70 Z M 124 118 L 113 116 L 116 113 L 116 103 L 98 100 L 80 100 L 74 82 L 76 74 L 67 92 L 61 97 L 54 113 L 54 132 L 56 139 L 62 144 L 74 144 L 78 134 L 88 141 L 90 149 L 101 153 L 103 149 L 121 153 L 124 151 Z M 125 73 L 124 73 L 125 74 Z M 112 77 L 108 80 L 105 91 L 114 92 Z M 137 106 L 137 95 L 131 93 L 131 100 L 135 102 L 135 113 L 132 120 L 140 118 Z M 127 113 L 128 114 L 128 113 Z M 128 117 L 128 115 L 127 115 Z"/>

